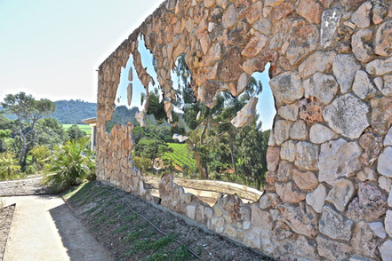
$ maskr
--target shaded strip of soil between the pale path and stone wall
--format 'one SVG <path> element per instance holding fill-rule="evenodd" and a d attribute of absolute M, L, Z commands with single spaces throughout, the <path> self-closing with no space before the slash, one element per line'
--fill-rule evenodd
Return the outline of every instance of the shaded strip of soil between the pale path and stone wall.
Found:
<path fill-rule="evenodd" d="M 79 186 L 64 197 L 116 260 L 199 259 L 175 240 L 204 260 L 272 260 L 218 234 L 205 233 L 196 226 L 188 225 L 183 219 L 155 208 L 139 196 L 98 181 Z M 157 232 L 120 198 L 167 235 Z"/>

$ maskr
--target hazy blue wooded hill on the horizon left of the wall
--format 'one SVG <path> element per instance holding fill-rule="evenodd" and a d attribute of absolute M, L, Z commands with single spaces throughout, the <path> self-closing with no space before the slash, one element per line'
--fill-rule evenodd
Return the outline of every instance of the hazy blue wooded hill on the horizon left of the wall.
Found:
<path fill-rule="evenodd" d="M 84 119 L 97 116 L 97 104 L 80 99 L 57 100 L 56 111 L 51 116 L 59 123 L 82 123 Z"/>

